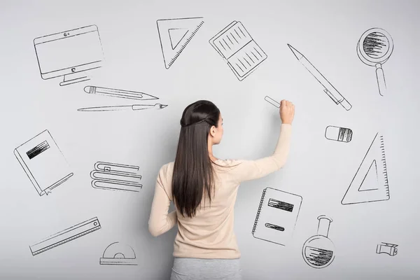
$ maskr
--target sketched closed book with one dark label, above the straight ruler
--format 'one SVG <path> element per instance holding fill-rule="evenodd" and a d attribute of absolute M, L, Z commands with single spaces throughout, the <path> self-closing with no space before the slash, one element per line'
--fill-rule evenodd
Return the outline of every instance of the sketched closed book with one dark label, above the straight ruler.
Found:
<path fill-rule="evenodd" d="M 48 130 L 15 148 L 14 154 L 39 196 L 48 195 L 53 188 L 73 176 Z"/>

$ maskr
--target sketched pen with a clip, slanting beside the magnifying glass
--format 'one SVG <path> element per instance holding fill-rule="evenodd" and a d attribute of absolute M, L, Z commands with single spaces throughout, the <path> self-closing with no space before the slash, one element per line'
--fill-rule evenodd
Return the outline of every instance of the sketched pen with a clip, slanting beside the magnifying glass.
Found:
<path fill-rule="evenodd" d="M 300 61 L 300 63 L 305 66 L 305 68 L 318 80 L 321 85 L 324 87 L 324 92 L 328 94 L 328 96 L 332 99 L 335 104 L 341 104 L 347 111 L 351 109 L 351 104 L 340 94 L 335 87 L 333 87 L 330 82 L 315 68 L 314 65 L 309 62 L 309 60 L 304 57 L 300 52 L 298 52 L 295 48 L 291 45 L 287 44 L 290 50 L 293 52 L 293 55 Z"/>

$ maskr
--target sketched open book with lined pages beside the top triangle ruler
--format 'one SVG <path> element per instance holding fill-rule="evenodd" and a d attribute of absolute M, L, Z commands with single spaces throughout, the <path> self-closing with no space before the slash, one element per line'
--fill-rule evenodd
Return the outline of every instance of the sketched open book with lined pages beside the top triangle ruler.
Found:
<path fill-rule="evenodd" d="M 238 80 L 244 80 L 267 59 L 244 25 L 236 20 L 211 38 L 209 43 L 225 59 Z"/>

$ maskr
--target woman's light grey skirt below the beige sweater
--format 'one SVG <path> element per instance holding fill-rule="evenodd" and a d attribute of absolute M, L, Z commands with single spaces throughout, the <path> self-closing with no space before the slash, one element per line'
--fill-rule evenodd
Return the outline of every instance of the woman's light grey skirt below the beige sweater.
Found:
<path fill-rule="evenodd" d="M 242 280 L 239 258 L 174 258 L 170 280 Z"/>

